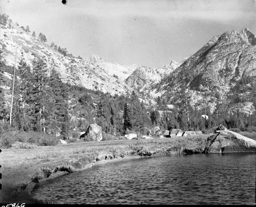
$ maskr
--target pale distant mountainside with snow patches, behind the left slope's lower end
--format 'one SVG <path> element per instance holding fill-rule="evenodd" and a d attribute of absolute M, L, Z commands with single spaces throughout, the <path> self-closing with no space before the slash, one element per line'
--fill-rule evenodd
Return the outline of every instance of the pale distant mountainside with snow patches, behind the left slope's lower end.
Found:
<path fill-rule="evenodd" d="M 116 62 L 110 62 L 95 55 L 91 56 L 88 61 L 95 66 L 102 68 L 109 75 L 115 76 L 120 81 L 124 81 L 134 70 L 136 70 L 136 68 L 139 67 L 135 64 L 131 66 L 120 65 Z"/>

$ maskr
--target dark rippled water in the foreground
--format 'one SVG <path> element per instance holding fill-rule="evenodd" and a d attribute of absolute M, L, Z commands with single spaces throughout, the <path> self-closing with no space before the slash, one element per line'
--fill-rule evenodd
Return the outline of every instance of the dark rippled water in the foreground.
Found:
<path fill-rule="evenodd" d="M 161 156 L 110 162 L 33 191 L 76 204 L 255 204 L 253 153 Z"/>

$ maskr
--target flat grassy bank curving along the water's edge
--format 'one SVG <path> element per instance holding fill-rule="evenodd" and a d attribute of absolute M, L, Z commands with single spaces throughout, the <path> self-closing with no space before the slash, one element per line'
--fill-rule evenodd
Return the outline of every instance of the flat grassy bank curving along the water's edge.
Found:
<path fill-rule="evenodd" d="M 42 203 L 44 201 L 34 200 L 28 191 L 23 190 L 31 180 L 42 180 L 59 171 L 87 169 L 92 163 L 105 159 L 189 153 L 192 149 L 203 151 L 208 137 L 209 135 L 197 135 L 147 140 L 79 142 L 31 149 L 2 149 L 0 163 L 3 178 L 0 202 Z"/>

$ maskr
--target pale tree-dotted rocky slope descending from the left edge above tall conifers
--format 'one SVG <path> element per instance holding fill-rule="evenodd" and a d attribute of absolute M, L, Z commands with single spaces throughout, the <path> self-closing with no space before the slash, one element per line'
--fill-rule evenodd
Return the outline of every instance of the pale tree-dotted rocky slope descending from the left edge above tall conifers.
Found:
<path fill-rule="evenodd" d="M 48 72 L 50 73 L 51 69 L 55 68 L 60 74 L 61 80 L 65 83 L 109 92 L 112 95 L 132 91 L 131 87 L 108 74 L 99 66 L 88 60 L 63 56 L 57 50 L 38 41 L 15 24 L 12 24 L 11 28 L 1 24 L 0 39 L 0 49 L 3 50 L 6 65 L 14 65 L 16 51 L 16 66 L 22 55 L 29 65 L 35 57 L 43 58 L 47 62 Z"/>

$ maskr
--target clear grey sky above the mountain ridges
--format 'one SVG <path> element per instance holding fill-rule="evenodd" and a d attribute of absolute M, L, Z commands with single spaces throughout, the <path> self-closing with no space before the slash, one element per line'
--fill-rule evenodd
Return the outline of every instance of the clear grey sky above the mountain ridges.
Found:
<path fill-rule="evenodd" d="M 245 28 L 256 35 L 256 0 L 0 1 L 1 13 L 45 34 L 48 44 L 121 65 L 161 67 L 193 55 L 215 35 Z"/>

